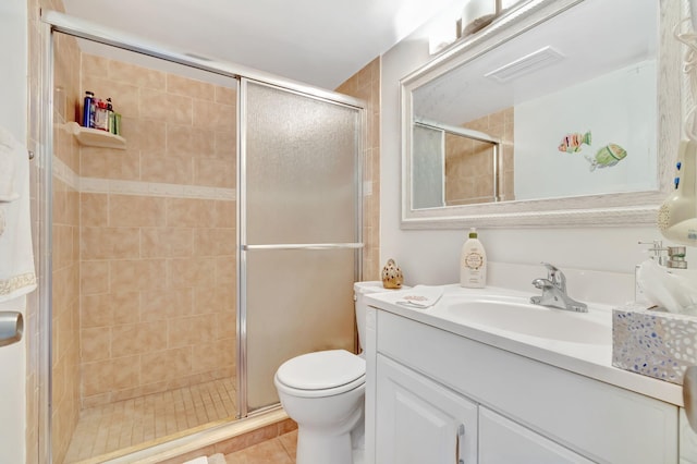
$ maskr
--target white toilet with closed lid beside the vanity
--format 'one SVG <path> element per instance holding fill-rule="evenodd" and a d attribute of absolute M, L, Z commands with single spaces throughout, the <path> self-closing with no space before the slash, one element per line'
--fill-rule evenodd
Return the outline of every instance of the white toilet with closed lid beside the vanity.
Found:
<path fill-rule="evenodd" d="M 358 344 L 363 347 L 366 293 L 382 282 L 354 283 Z M 273 377 L 288 415 L 297 423 L 297 464 L 363 462 L 366 362 L 345 350 L 307 353 L 283 363 Z"/>

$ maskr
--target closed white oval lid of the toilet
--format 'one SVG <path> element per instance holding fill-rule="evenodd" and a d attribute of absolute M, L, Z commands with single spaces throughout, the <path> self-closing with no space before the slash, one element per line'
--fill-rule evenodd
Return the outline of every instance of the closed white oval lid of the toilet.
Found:
<path fill-rule="evenodd" d="M 327 390 L 351 383 L 366 374 L 366 362 L 345 350 L 307 353 L 286 361 L 276 376 L 298 390 Z"/>

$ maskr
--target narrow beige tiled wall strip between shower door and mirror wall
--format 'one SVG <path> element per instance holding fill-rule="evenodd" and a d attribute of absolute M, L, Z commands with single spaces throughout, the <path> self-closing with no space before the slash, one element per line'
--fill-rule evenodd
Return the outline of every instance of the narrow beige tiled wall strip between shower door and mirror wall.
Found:
<path fill-rule="evenodd" d="M 380 264 L 380 59 L 342 83 L 337 91 L 366 102 L 367 134 L 363 159 L 363 280 L 379 280 Z"/>

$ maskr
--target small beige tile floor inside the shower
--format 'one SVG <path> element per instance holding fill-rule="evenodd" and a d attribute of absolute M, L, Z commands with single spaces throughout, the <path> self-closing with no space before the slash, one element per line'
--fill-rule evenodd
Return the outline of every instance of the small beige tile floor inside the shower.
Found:
<path fill-rule="evenodd" d="M 120 401 L 81 412 L 65 456 L 76 463 L 185 430 L 237 413 L 234 378 Z"/>

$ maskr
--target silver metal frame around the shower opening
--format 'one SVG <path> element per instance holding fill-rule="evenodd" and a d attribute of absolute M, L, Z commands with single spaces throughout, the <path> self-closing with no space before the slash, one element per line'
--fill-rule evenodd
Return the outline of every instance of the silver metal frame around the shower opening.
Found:
<path fill-rule="evenodd" d="M 39 266 L 44 272 L 44 282 L 40 284 L 40 298 L 39 298 L 39 330 L 41 332 L 40 337 L 40 345 L 39 345 L 39 453 L 41 455 L 47 456 L 48 462 L 51 461 L 51 378 L 52 378 L 52 366 L 51 366 L 51 343 L 52 343 L 52 333 L 51 333 L 51 314 L 52 314 L 52 301 L 51 301 L 51 267 L 52 267 L 52 257 L 51 257 L 51 218 L 52 218 L 52 156 L 53 156 L 53 136 L 52 136 L 52 127 L 53 127 L 53 33 L 62 33 L 69 36 L 86 39 L 108 46 L 112 46 L 122 50 L 127 50 L 132 52 L 136 52 L 139 54 L 145 54 L 152 58 L 158 58 L 164 61 L 169 61 L 176 64 L 182 64 L 185 66 L 189 66 L 193 69 L 207 71 L 213 74 L 235 78 L 237 81 L 249 80 L 256 81 L 258 83 L 262 83 L 266 85 L 279 87 L 284 90 L 289 90 L 292 93 L 296 93 L 298 95 L 303 95 L 309 98 L 316 98 L 329 102 L 334 102 L 338 105 L 344 105 L 346 107 L 355 108 L 359 113 L 359 127 L 360 127 L 360 137 L 357 141 L 357 196 L 358 205 L 356 213 L 357 218 L 357 237 L 362 239 L 363 234 L 363 157 L 365 150 L 365 137 L 367 130 L 367 119 L 366 119 L 366 105 L 363 100 L 350 97 L 346 95 L 338 94 L 331 90 L 322 89 L 319 87 L 315 87 L 308 84 L 298 83 L 292 80 L 283 78 L 270 73 L 265 73 L 261 71 L 257 71 L 250 68 L 246 68 L 243 65 L 217 61 L 217 60 L 207 60 L 205 58 L 197 58 L 192 54 L 187 54 L 185 51 L 176 51 L 168 48 L 167 46 L 145 39 L 143 37 L 138 37 L 136 35 L 131 35 L 111 27 L 102 26 L 97 23 L 93 23 L 90 21 L 82 20 L 75 16 L 70 16 L 64 13 L 60 13 L 51 10 L 41 11 L 41 24 L 40 24 L 40 34 L 42 36 L 41 44 L 41 70 L 40 70 L 40 86 L 41 86 L 41 99 L 39 102 L 39 121 L 40 121 L 40 149 L 39 149 L 39 159 L 41 166 L 44 168 L 42 176 L 39 180 L 41 183 L 41 200 L 45 203 L 42 206 L 42 210 L 39 213 L 40 227 L 39 227 L 39 237 L 40 237 L 40 246 L 44 246 L 45 252 L 42 252 L 39 256 Z M 237 91 L 237 122 L 236 122 L 236 144 L 237 144 L 237 162 L 242 159 L 242 149 L 244 149 L 242 143 L 243 134 L 243 124 L 244 121 L 241 120 L 241 102 L 243 101 L 243 90 L 242 86 L 239 87 Z M 237 167 L 240 169 L 240 167 Z M 240 191 L 240 185 L 236 186 L 236 190 Z M 240 198 L 236 199 L 240 202 Z M 240 218 L 237 218 L 240 219 Z M 240 228 L 240 224 L 237 224 Z M 237 269 L 240 269 L 240 243 L 237 242 Z M 362 276 L 362 253 L 360 249 L 356 252 L 356 269 L 355 276 L 357 279 Z M 240 278 L 237 278 L 239 283 Z M 237 289 L 237 304 L 240 304 L 240 292 L 241 289 Z M 244 325 L 244 319 L 241 319 L 242 309 L 240 307 L 236 308 L 235 313 L 237 315 L 237 382 L 240 382 L 240 378 L 242 376 L 246 376 L 246 371 L 243 370 L 246 368 L 246 362 L 240 361 L 241 356 L 244 355 L 244 347 L 240 350 L 242 343 L 246 339 L 246 332 Z M 240 384 L 240 383 L 239 383 Z M 243 398 L 244 394 L 244 398 Z M 247 411 L 246 404 L 246 388 L 237 390 L 237 418 L 244 418 L 252 415 L 261 414 L 270 408 L 276 408 L 279 406 L 271 406 L 265 410 L 257 410 L 254 413 L 249 414 Z M 244 414 L 243 414 L 244 412 Z M 219 426 L 220 427 L 220 426 Z M 216 429 L 217 427 L 212 428 Z"/>

